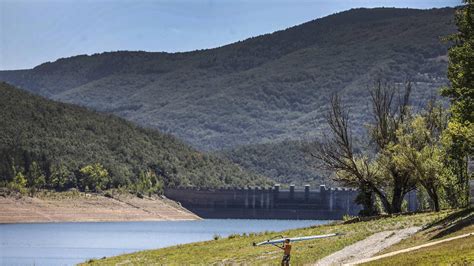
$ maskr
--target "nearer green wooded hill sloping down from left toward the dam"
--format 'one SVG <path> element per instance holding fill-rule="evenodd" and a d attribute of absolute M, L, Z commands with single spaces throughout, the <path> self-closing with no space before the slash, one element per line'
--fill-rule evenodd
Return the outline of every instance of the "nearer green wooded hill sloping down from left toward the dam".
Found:
<path fill-rule="evenodd" d="M 169 187 L 270 184 L 263 176 L 200 153 L 173 136 L 6 83 L 0 83 L 0 128 L 0 185 L 23 172 L 27 177 L 43 176 L 43 186 L 48 187 L 60 172 L 65 188 L 74 187 L 81 184 L 79 169 L 96 163 L 109 172 L 108 187 L 136 184 L 143 171 L 153 171 Z"/>

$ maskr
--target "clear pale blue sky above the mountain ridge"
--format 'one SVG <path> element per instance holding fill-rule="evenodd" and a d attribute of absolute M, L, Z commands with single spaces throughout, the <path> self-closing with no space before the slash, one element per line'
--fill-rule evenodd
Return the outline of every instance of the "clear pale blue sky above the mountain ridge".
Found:
<path fill-rule="evenodd" d="M 0 0 L 0 70 L 106 51 L 219 47 L 357 7 L 457 0 Z"/>

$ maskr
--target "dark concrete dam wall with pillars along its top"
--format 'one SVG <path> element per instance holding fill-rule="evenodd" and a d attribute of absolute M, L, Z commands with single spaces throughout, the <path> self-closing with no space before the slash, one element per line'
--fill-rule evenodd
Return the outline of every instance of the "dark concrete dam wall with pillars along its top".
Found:
<path fill-rule="evenodd" d="M 354 202 L 358 192 L 347 188 L 311 190 L 271 188 L 166 189 L 165 196 L 203 218 L 239 219 L 342 219 L 362 209 Z"/>

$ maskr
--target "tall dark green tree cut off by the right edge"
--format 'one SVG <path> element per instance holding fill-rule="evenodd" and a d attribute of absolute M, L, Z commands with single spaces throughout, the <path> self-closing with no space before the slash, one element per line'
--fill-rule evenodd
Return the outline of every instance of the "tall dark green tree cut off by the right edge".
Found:
<path fill-rule="evenodd" d="M 449 145 L 448 158 L 458 177 L 457 184 L 464 196 L 463 205 L 469 198 L 469 156 L 473 153 L 474 131 L 474 1 L 464 0 L 465 5 L 456 12 L 458 32 L 449 36 L 453 42 L 449 48 L 448 78 L 450 87 L 443 88 L 442 95 L 451 99 L 452 117 L 444 136 Z"/>

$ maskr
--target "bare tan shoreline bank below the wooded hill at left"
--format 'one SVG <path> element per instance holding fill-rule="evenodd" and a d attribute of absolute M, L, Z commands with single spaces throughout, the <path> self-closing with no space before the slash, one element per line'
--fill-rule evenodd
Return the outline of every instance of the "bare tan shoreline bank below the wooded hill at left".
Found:
<path fill-rule="evenodd" d="M 118 194 L 41 193 L 0 196 L 0 224 L 199 220 L 174 201 Z"/>

